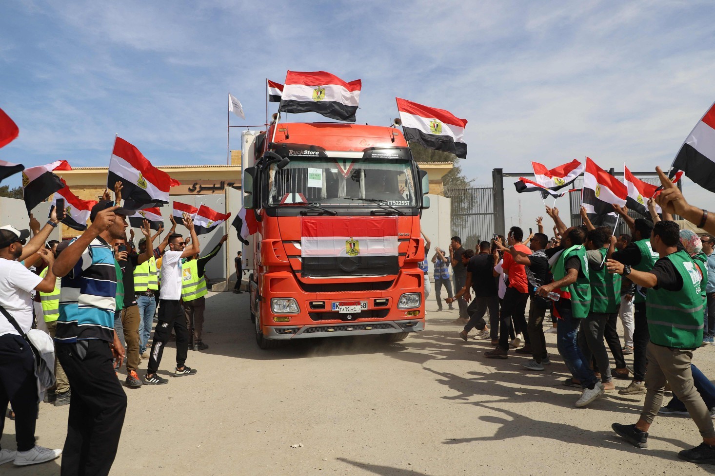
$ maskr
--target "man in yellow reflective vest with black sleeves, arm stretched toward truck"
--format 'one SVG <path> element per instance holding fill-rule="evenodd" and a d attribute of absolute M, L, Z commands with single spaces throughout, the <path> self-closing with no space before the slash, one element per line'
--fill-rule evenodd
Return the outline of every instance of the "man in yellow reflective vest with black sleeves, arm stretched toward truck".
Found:
<path fill-rule="evenodd" d="M 186 315 L 186 327 L 189 329 L 189 349 L 205 350 L 209 346 L 201 341 L 201 334 L 204 329 L 204 309 L 206 308 L 206 276 L 204 267 L 210 259 L 215 257 L 222 245 L 228 239 L 225 234 L 221 237 L 219 244 L 204 257 L 194 254 L 184 261 L 182 265 L 182 287 L 181 297 L 184 304 L 184 314 Z"/>

